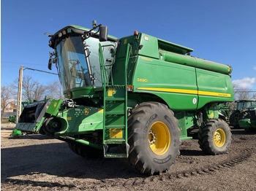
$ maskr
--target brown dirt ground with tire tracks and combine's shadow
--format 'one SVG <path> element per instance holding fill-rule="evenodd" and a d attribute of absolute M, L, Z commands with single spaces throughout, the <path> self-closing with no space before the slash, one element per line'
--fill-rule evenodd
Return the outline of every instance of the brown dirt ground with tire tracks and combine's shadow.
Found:
<path fill-rule="evenodd" d="M 118 159 L 85 160 L 46 136 L 10 139 L 1 127 L 1 190 L 256 190 L 256 133 L 233 129 L 226 155 L 183 141 L 170 171 L 141 176 Z"/>

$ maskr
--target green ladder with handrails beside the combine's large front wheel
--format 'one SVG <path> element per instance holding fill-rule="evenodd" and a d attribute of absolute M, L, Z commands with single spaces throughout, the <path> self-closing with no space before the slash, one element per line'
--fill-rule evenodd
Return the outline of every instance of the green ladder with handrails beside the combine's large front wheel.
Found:
<path fill-rule="evenodd" d="M 103 113 L 103 149 L 105 157 L 124 158 L 129 155 L 129 144 L 127 143 L 127 63 L 129 61 L 130 45 L 127 45 L 127 57 L 124 69 L 124 84 L 109 84 L 105 62 L 99 44 L 99 63 L 102 73 L 102 86 L 104 96 Z M 110 69 L 112 71 L 112 69 Z"/>

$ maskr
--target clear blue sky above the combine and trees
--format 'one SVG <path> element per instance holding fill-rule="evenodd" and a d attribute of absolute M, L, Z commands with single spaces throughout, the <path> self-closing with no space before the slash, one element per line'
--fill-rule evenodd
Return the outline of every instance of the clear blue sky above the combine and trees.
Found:
<path fill-rule="evenodd" d="M 97 20 L 118 38 L 137 30 L 190 47 L 195 57 L 232 66 L 233 82 L 256 90 L 255 10 L 255 0 L 1 0 L 1 85 L 18 79 L 20 65 L 49 71 L 45 32 L 91 28 Z M 23 75 L 43 84 L 59 80 L 26 69 Z"/>

